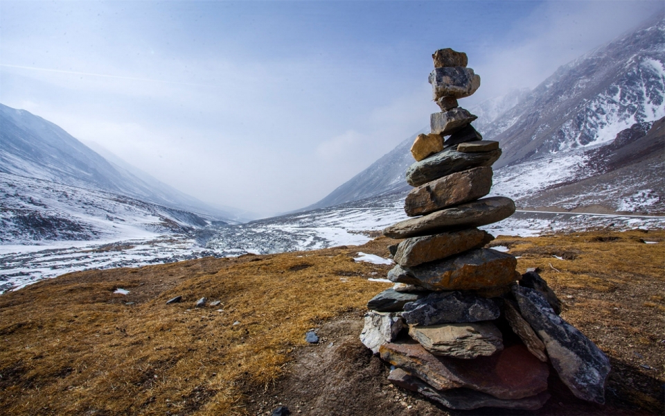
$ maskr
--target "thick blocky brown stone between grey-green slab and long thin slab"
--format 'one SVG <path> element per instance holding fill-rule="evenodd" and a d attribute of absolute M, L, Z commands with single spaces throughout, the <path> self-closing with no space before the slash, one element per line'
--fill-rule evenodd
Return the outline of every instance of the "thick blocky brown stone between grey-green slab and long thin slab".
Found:
<path fill-rule="evenodd" d="M 429 214 L 452 205 L 482 198 L 490 193 L 491 187 L 490 167 L 451 173 L 411 189 L 404 201 L 404 211 L 408 216 Z"/>

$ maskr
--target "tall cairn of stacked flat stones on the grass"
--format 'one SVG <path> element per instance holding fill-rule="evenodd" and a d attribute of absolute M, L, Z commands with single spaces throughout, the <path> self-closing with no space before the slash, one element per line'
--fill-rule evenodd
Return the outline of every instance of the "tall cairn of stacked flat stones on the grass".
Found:
<path fill-rule="evenodd" d="M 395 367 L 391 382 L 449 408 L 538 409 L 551 370 L 576 397 L 603 404 L 608 358 L 559 317 L 537 272 L 520 275 L 515 257 L 484 248 L 494 238 L 477 227 L 515 212 L 510 198 L 483 198 L 501 149 L 458 106 L 480 86 L 466 54 L 441 49 L 432 58 L 441 112 L 411 147 L 405 211 L 414 218 L 384 229 L 404 239 L 390 247 L 396 284 L 367 304 L 360 339 Z"/>

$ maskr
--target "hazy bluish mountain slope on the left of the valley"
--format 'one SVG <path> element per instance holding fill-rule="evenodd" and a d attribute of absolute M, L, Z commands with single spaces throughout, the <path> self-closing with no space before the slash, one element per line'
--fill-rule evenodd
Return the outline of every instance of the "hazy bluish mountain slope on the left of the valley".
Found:
<path fill-rule="evenodd" d="M 219 219 L 236 216 L 233 211 L 211 207 L 138 169 L 109 162 L 62 128 L 26 110 L 0 104 L 0 141 L 3 173 L 116 193 Z"/>

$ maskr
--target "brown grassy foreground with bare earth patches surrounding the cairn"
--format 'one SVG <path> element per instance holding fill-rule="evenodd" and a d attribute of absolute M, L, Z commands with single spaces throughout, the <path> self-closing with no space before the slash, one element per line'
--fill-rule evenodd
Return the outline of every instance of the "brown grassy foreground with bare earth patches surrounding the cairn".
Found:
<path fill-rule="evenodd" d="M 665 413 L 664 231 L 490 244 L 520 257 L 520 272 L 540 268 L 562 317 L 612 363 L 605 406 L 552 374 L 546 406 L 521 413 L 454 412 L 387 382 L 389 365 L 357 336 L 367 300 L 390 286 L 367 279 L 391 266 L 353 257 L 387 257 L 393 242 L 76 272 L 1 295 L 0 414 L 255 415 L 280 404 L 302 415 Z M 195 309 L 200 297 L 222 303 Z M 309 329 L 319 344 L 305 343 Z"/>

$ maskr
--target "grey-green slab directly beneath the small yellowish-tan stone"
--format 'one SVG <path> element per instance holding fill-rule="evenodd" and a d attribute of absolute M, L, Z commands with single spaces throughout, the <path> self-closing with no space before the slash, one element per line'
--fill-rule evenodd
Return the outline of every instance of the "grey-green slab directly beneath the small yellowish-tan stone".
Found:
<path fill-rule="evenodd" d="M 481 153 L 458 152 L 454 147 L 426 157 L 407 169 L 407 182 L 411 187 L 432 182 L 451 173 L 466 171 L 479 166 L 492 166 L 501 156 L 501 149 Z"/>

